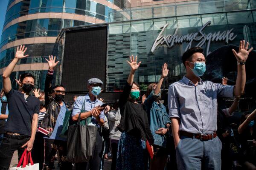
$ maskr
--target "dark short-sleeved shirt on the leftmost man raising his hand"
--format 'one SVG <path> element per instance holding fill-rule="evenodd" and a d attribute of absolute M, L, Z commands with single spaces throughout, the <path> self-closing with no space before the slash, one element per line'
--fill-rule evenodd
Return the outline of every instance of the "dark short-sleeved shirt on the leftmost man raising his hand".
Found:
<path fill-rule="evenodd" d="M 38 114 L 40 111 L 39 99 L 29 95 L 25 100 L 23 93 L 13 89 L 5 95 L 8 101 L 9 116 L 4 131 L 31 136 L 33 114 Z"/>

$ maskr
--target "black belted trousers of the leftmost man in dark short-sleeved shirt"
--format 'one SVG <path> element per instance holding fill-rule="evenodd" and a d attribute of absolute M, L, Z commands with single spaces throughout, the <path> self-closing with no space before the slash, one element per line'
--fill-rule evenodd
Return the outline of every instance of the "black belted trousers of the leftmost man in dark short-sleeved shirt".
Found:
<path fill-rule="evenodd" d="M 3 136 L 0 145 L 0 170 L 9 169 L 15 150 L 18 150 L 18 157 L 20 160 L 22 153 L 26 149 L 26 147 L 22 147 L 22 145 L 28 142 L 29 139 L 30 136 L 19 136 L 19 138 L 7 137 L 6 135 Z"/>

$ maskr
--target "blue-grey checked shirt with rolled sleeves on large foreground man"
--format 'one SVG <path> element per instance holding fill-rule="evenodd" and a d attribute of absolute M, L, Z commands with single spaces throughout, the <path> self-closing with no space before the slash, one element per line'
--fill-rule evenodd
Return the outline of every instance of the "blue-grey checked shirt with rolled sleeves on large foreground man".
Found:
<path fill-rule="evenodd" d="M 180 130 L 213 133 L 217 130 L 217 96 L 232 98 L 233 88 L 201 79 L 195 86 L 184 76 L 169 86 L 169 116 L 180 119 Z"/>

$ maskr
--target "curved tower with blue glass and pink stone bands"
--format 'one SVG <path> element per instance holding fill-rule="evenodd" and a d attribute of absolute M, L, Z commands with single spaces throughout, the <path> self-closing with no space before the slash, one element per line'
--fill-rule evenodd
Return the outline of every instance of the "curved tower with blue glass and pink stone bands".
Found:
<path fill-rule="evenodd" d="M 15 66 L 12 86 L 16 88 L 20 74 L 30 72 L 36 77 L 36 88 L 44 89 L 45 58 L 57 56 L 55 41 L 60 30 L 108 22 L 109 10 L 125 6 L 129 2 L 122 0 L 9 0 L 0 41 L 0 75 L 14 58 L 16 47 L 26 45 L 29 57 Z"/>

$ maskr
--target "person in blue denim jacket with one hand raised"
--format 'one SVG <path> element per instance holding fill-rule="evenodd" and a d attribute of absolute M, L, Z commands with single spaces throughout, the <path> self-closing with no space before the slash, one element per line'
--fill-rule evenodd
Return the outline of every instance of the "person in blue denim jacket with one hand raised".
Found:
<path fill-rule="evenodd" d="M 147 98 L 144 105 L 148 113 L 150 130 L 154 137 L 154 157 L 150 163 L 151 170 L 163 170 L 167 161 L 168 152 L 166 139 L 168 136 L 171 120 L 166 112 L 166 107 L 160 102 L 161 85 L 163 79 L 168 75 L 167 64 L 162 66 L 162 75 L 158 83 L 148 85 Z"/>

